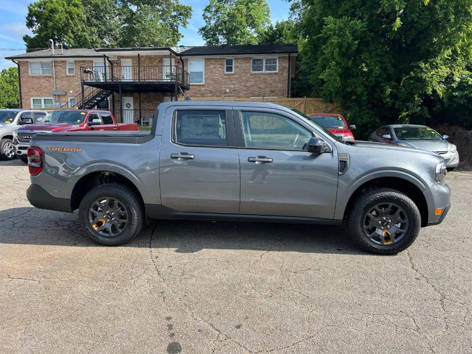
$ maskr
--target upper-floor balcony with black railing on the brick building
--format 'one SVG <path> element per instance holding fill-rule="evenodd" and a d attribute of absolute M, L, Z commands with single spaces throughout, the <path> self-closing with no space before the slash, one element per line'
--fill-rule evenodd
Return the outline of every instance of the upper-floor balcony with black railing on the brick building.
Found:
<path fill-rule="evenodd" d="M 113 92 L 188 90 L 189 74 L 177 65 L 81 66 L 81 82 Z"/>

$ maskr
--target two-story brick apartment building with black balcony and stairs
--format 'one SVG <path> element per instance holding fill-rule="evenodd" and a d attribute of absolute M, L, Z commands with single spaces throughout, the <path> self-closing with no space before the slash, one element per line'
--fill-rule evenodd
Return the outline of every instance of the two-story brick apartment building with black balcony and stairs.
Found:
<path fill-rule="evenodd" d="M 22 108 L 107 108 L 119 121 L 148 119 L 166 100 L 289 97 L 293 44 L 38 50 L 18 65 Z"/>

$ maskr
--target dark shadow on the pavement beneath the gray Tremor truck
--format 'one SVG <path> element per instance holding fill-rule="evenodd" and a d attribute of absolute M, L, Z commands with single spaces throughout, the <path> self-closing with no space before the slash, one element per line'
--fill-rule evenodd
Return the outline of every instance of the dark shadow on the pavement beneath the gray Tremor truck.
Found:
<path fill-rule="evenodd" d="M 0 243 L 101 247 L 82 232 L 77 213 L 33 207 L 0 211 Z M 123 247 L 170 248 L 179 253 L 203 249 L 359 254 L 343 226 L 233 221 L 151 221 Z"/>

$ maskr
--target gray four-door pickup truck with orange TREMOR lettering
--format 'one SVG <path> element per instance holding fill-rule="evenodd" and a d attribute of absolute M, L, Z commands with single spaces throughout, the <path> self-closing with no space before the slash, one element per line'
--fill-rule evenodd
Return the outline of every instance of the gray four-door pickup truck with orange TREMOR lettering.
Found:
<path fill-rule="evenodd" d="M 360 247 L 394 254 L 450 208 L 440 156 L 341 141 L 270 103 L 162 103 L 149 133 L 39 134 L 28 158 L 30 203 L 79 209 L 103 245 L 129 242 L 149 218 L 346 220 Z"/>

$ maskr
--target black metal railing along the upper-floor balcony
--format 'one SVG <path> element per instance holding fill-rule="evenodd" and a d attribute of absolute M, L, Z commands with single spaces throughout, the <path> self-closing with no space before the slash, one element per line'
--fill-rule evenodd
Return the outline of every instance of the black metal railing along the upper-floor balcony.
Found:
<path fill-rule="evenodd" d="M 81 80 L 88 82 L 189 82 L 189 73 L 177 65 L 81 66 L 80 72 Z"/>

